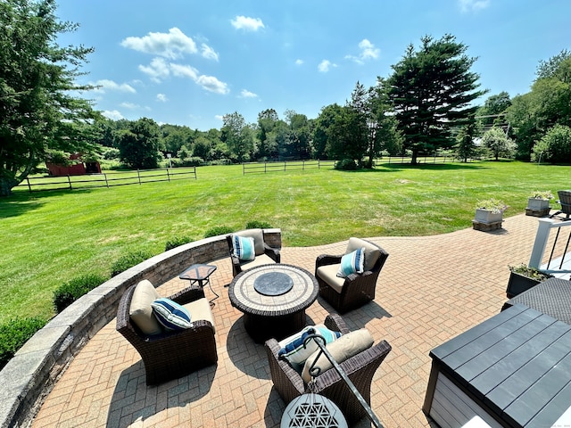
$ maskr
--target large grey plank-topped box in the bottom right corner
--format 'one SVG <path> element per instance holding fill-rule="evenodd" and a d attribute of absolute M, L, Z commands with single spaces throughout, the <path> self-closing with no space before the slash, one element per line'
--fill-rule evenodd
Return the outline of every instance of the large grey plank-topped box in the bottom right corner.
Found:
<path fill-rule="evenodd" d="M 515 305 L 430 352 L 426 415 L 442 427 L 571 424 L 571 326 Z"/>

